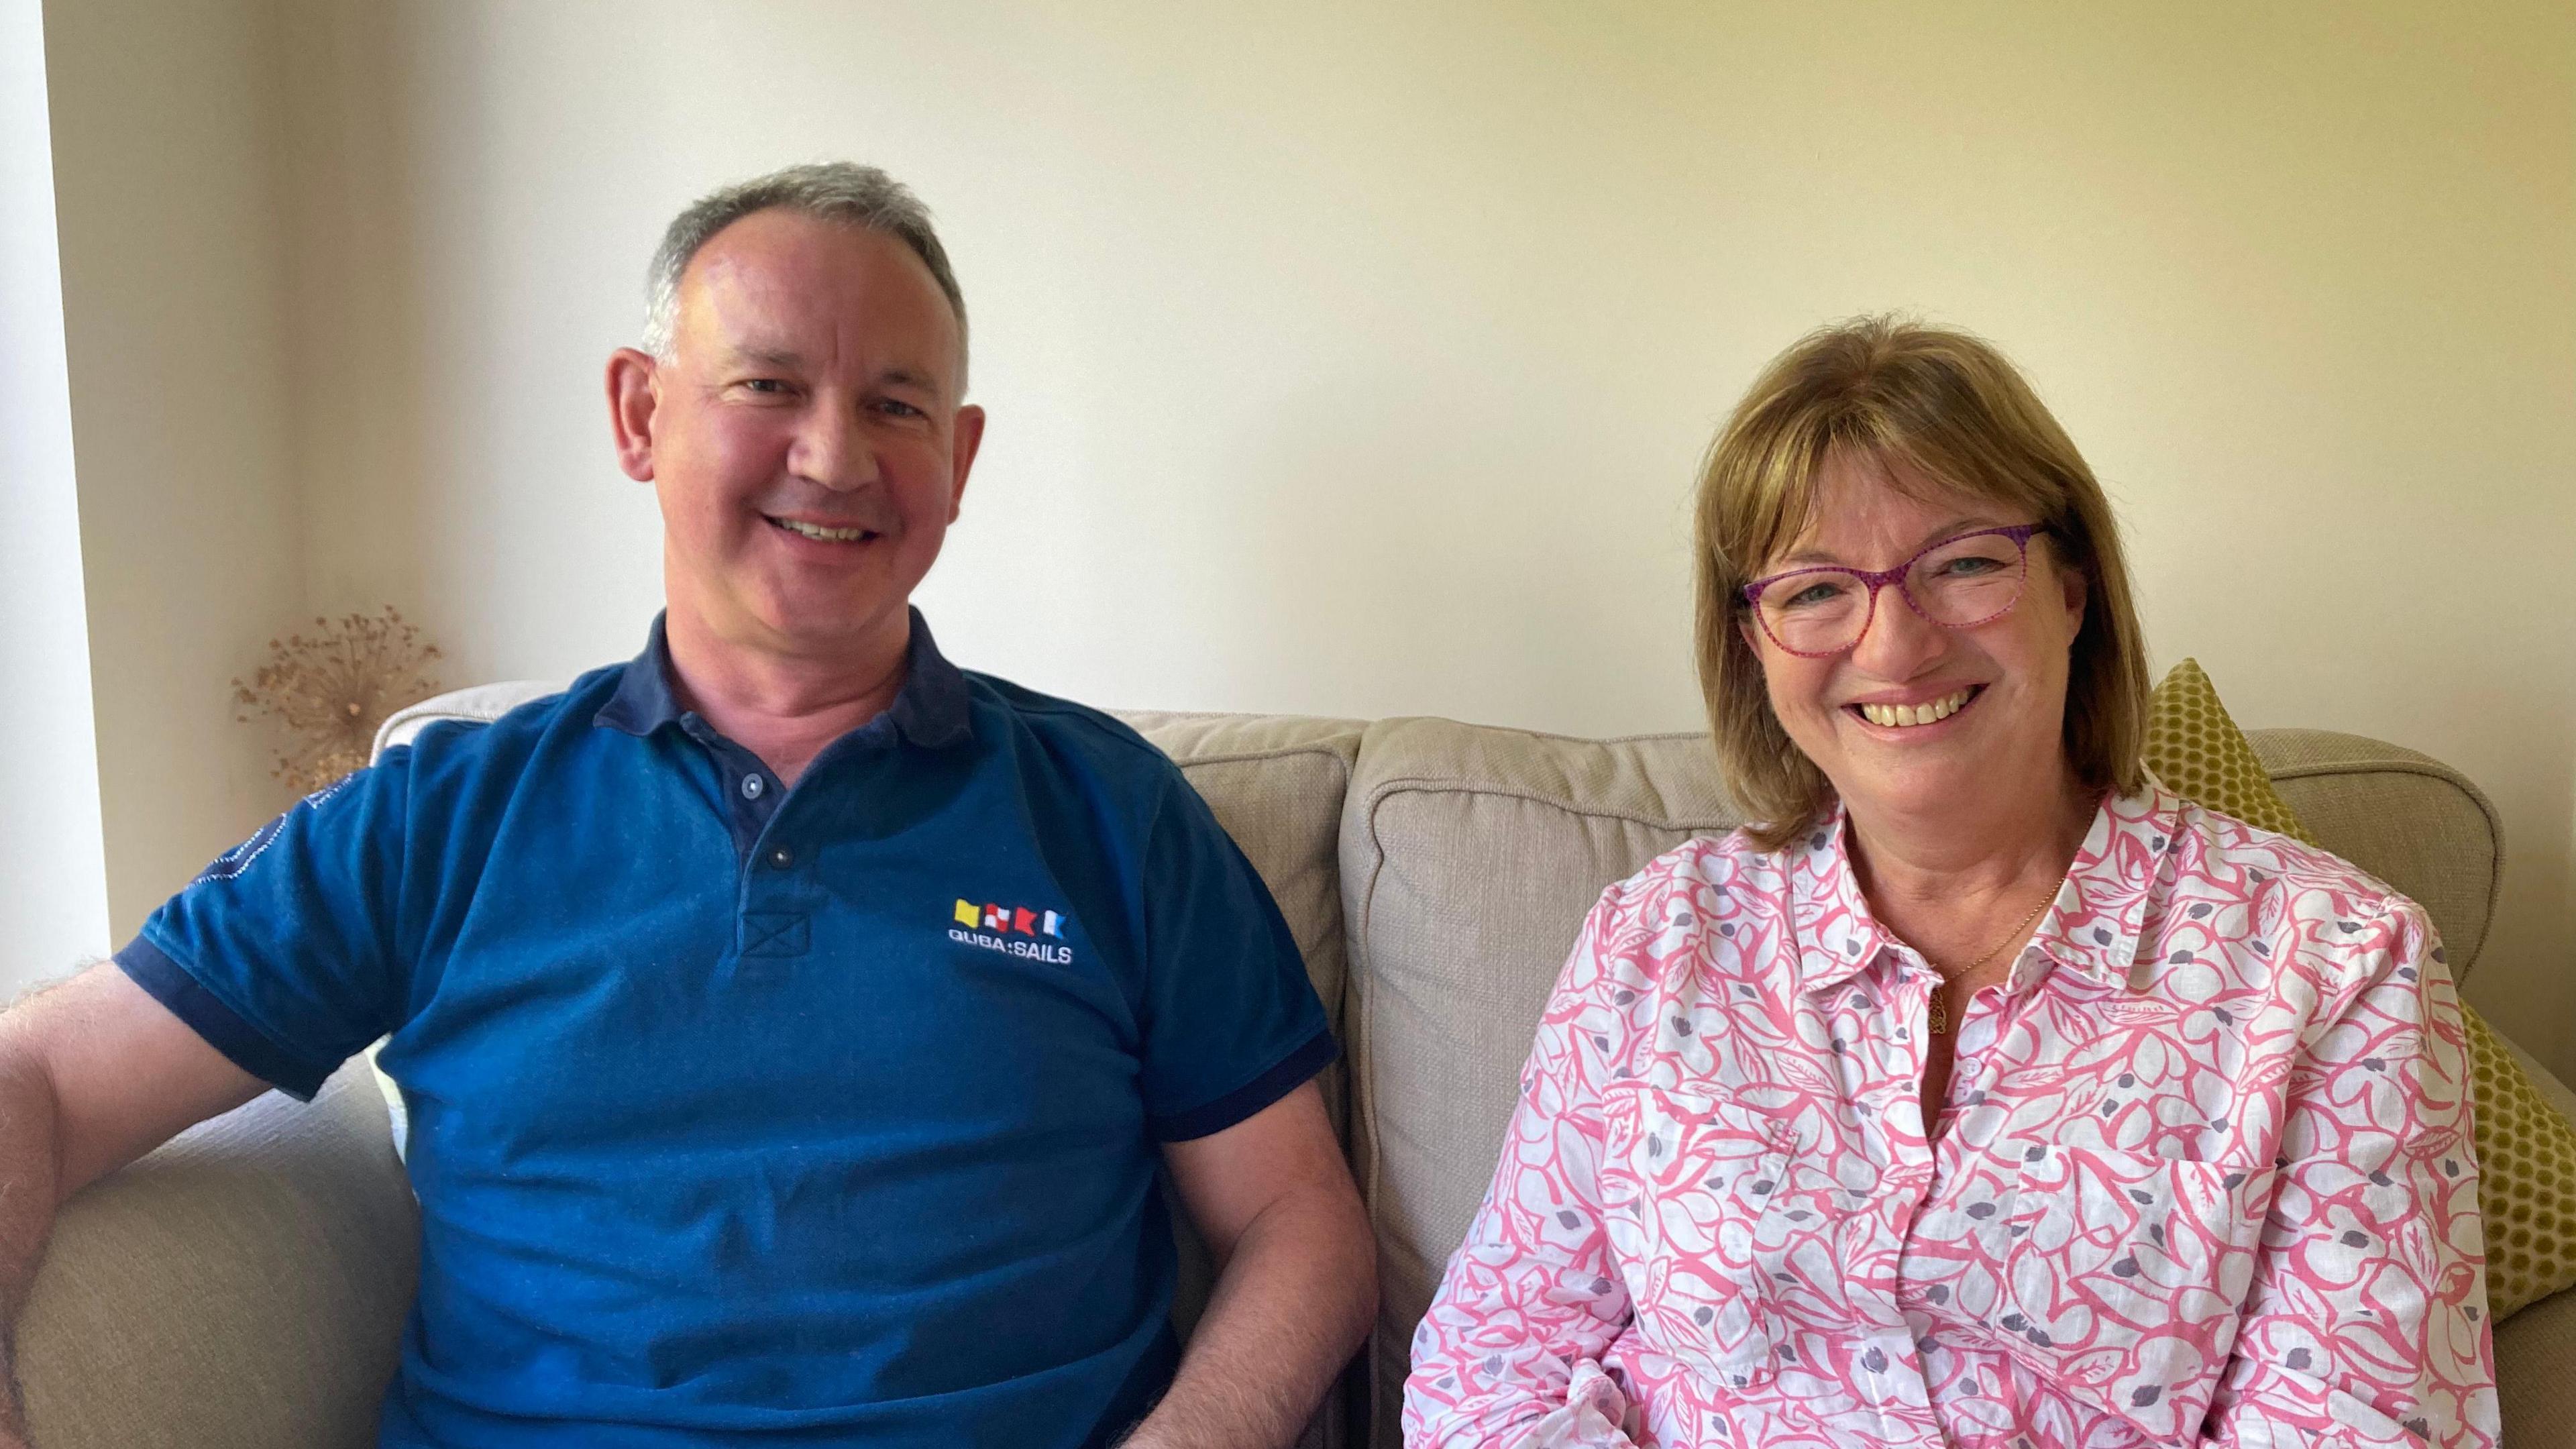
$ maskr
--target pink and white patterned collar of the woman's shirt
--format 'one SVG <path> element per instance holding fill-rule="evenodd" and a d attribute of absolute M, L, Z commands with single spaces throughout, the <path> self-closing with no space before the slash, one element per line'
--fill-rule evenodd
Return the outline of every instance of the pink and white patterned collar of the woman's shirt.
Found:
<path fill-rule="evenodd" d="M 2007 993 L 2030 987 L 2050 967 L 2102 985 L 2130 985 L 2138 938 L 2177 848 L 2179 810 L 2182 802 L 2164 789 L 2102 802 L 2084 846 L 2066 866 L 2066 882 L 2030 936 L 2038 951 L 2022 951 L 2012 964 Z M 1847 830 L 1850 817 L 1837 804 L 1816 830 L 1788 846 L 1801 990 L 1842 985 L 1880 951 L 1904 949 L 1860 892 Z"/>

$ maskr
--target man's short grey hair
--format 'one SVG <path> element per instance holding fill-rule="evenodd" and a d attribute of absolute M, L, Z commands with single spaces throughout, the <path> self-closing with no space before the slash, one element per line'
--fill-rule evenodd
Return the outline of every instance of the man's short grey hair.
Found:
<path fill-rule="evenodd" d="M 716 232 L 752 211 L 796 211 L 817 222 L 842 222 L 884 232 L 922 258 L 958 320 L 958 392 L 966 392 L 966 294 L 948 268 L 948 248 L 930 227 L 930 209 L 909 186 L 873 165 L 848 160 L 791 165 L 701 196 L 670 219 L 644 278 L 644 351 L 667 358 L 680 325 L 680 273 Z"/>

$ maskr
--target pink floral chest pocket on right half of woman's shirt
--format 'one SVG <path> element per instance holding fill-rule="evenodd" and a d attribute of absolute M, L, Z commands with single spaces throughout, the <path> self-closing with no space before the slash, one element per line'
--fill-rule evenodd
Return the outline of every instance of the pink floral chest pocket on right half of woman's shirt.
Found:
<path fill-rule="evenodd" d="M 1996 1328 L 2151 1439 L 2210 1408 L 2254 1287 L 2272 1173 L 2014 1145 Z"/>

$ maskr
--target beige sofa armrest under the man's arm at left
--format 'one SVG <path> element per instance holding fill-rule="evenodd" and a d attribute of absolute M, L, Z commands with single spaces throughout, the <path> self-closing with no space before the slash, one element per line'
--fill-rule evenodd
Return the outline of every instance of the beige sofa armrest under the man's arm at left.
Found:
<path fill-rule="evenodd" d="M 363 1060 L 64 1204 L 18 1333 L 41 1449 L 368 1449 L 417 1209 Z"/>

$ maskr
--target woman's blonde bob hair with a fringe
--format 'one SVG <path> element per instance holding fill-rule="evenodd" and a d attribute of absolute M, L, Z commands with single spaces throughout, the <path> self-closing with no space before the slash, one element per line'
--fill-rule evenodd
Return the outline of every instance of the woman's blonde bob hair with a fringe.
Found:
<path fill-rule="evenodd" d="M 2146 732 L 2146 642 L 2130 603 L 2120 529 L 2058 420 L 1994 345 L 1896 317 L 1821 327 L 1772 358 L 1700 464 L 1700 694 L 1718 768 L 1767 851 L 1834 804 L 1824 771 L 1790 743 L 1747 642 L 1744 585 L 1806 531 L 1816 480 L 1834 459 L 1878 462 L 2002 503 L 2048 529 L 2081 570 L 2084 624 L 2066 678 L 2066 761 L 2089 789 L 2136 792 Z M 1904 608 L 1880 598 L 1880 608 Z"/>

